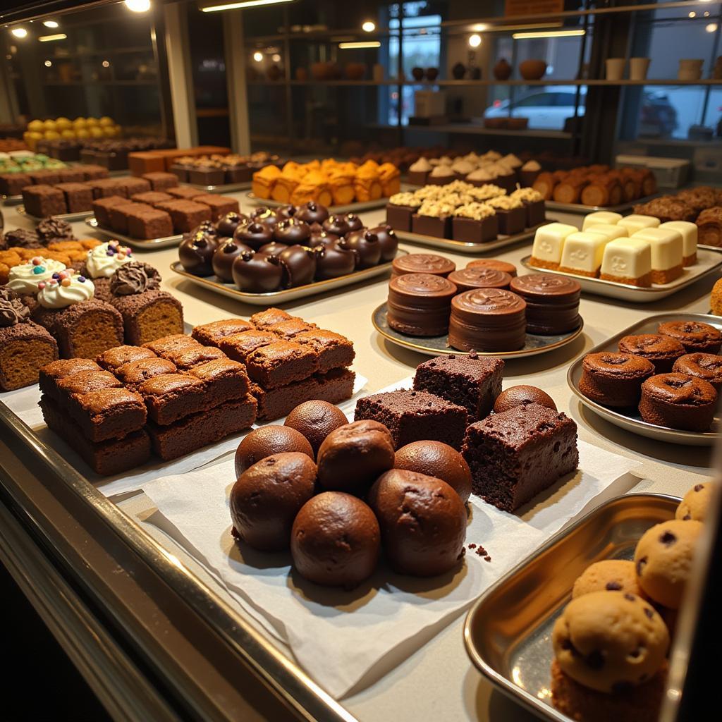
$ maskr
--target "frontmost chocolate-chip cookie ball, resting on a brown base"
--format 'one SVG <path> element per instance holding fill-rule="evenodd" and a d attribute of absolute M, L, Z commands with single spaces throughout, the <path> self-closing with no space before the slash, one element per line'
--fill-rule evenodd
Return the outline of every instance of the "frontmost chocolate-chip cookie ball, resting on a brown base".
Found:
<path fill-rule="evenodd" d="M 573 599 L 554 623 L 554 656 L 575 682 L 623 692 L 648 682 L 664 664 L 669 632 L 648 601 L 596 591 Z"/>

